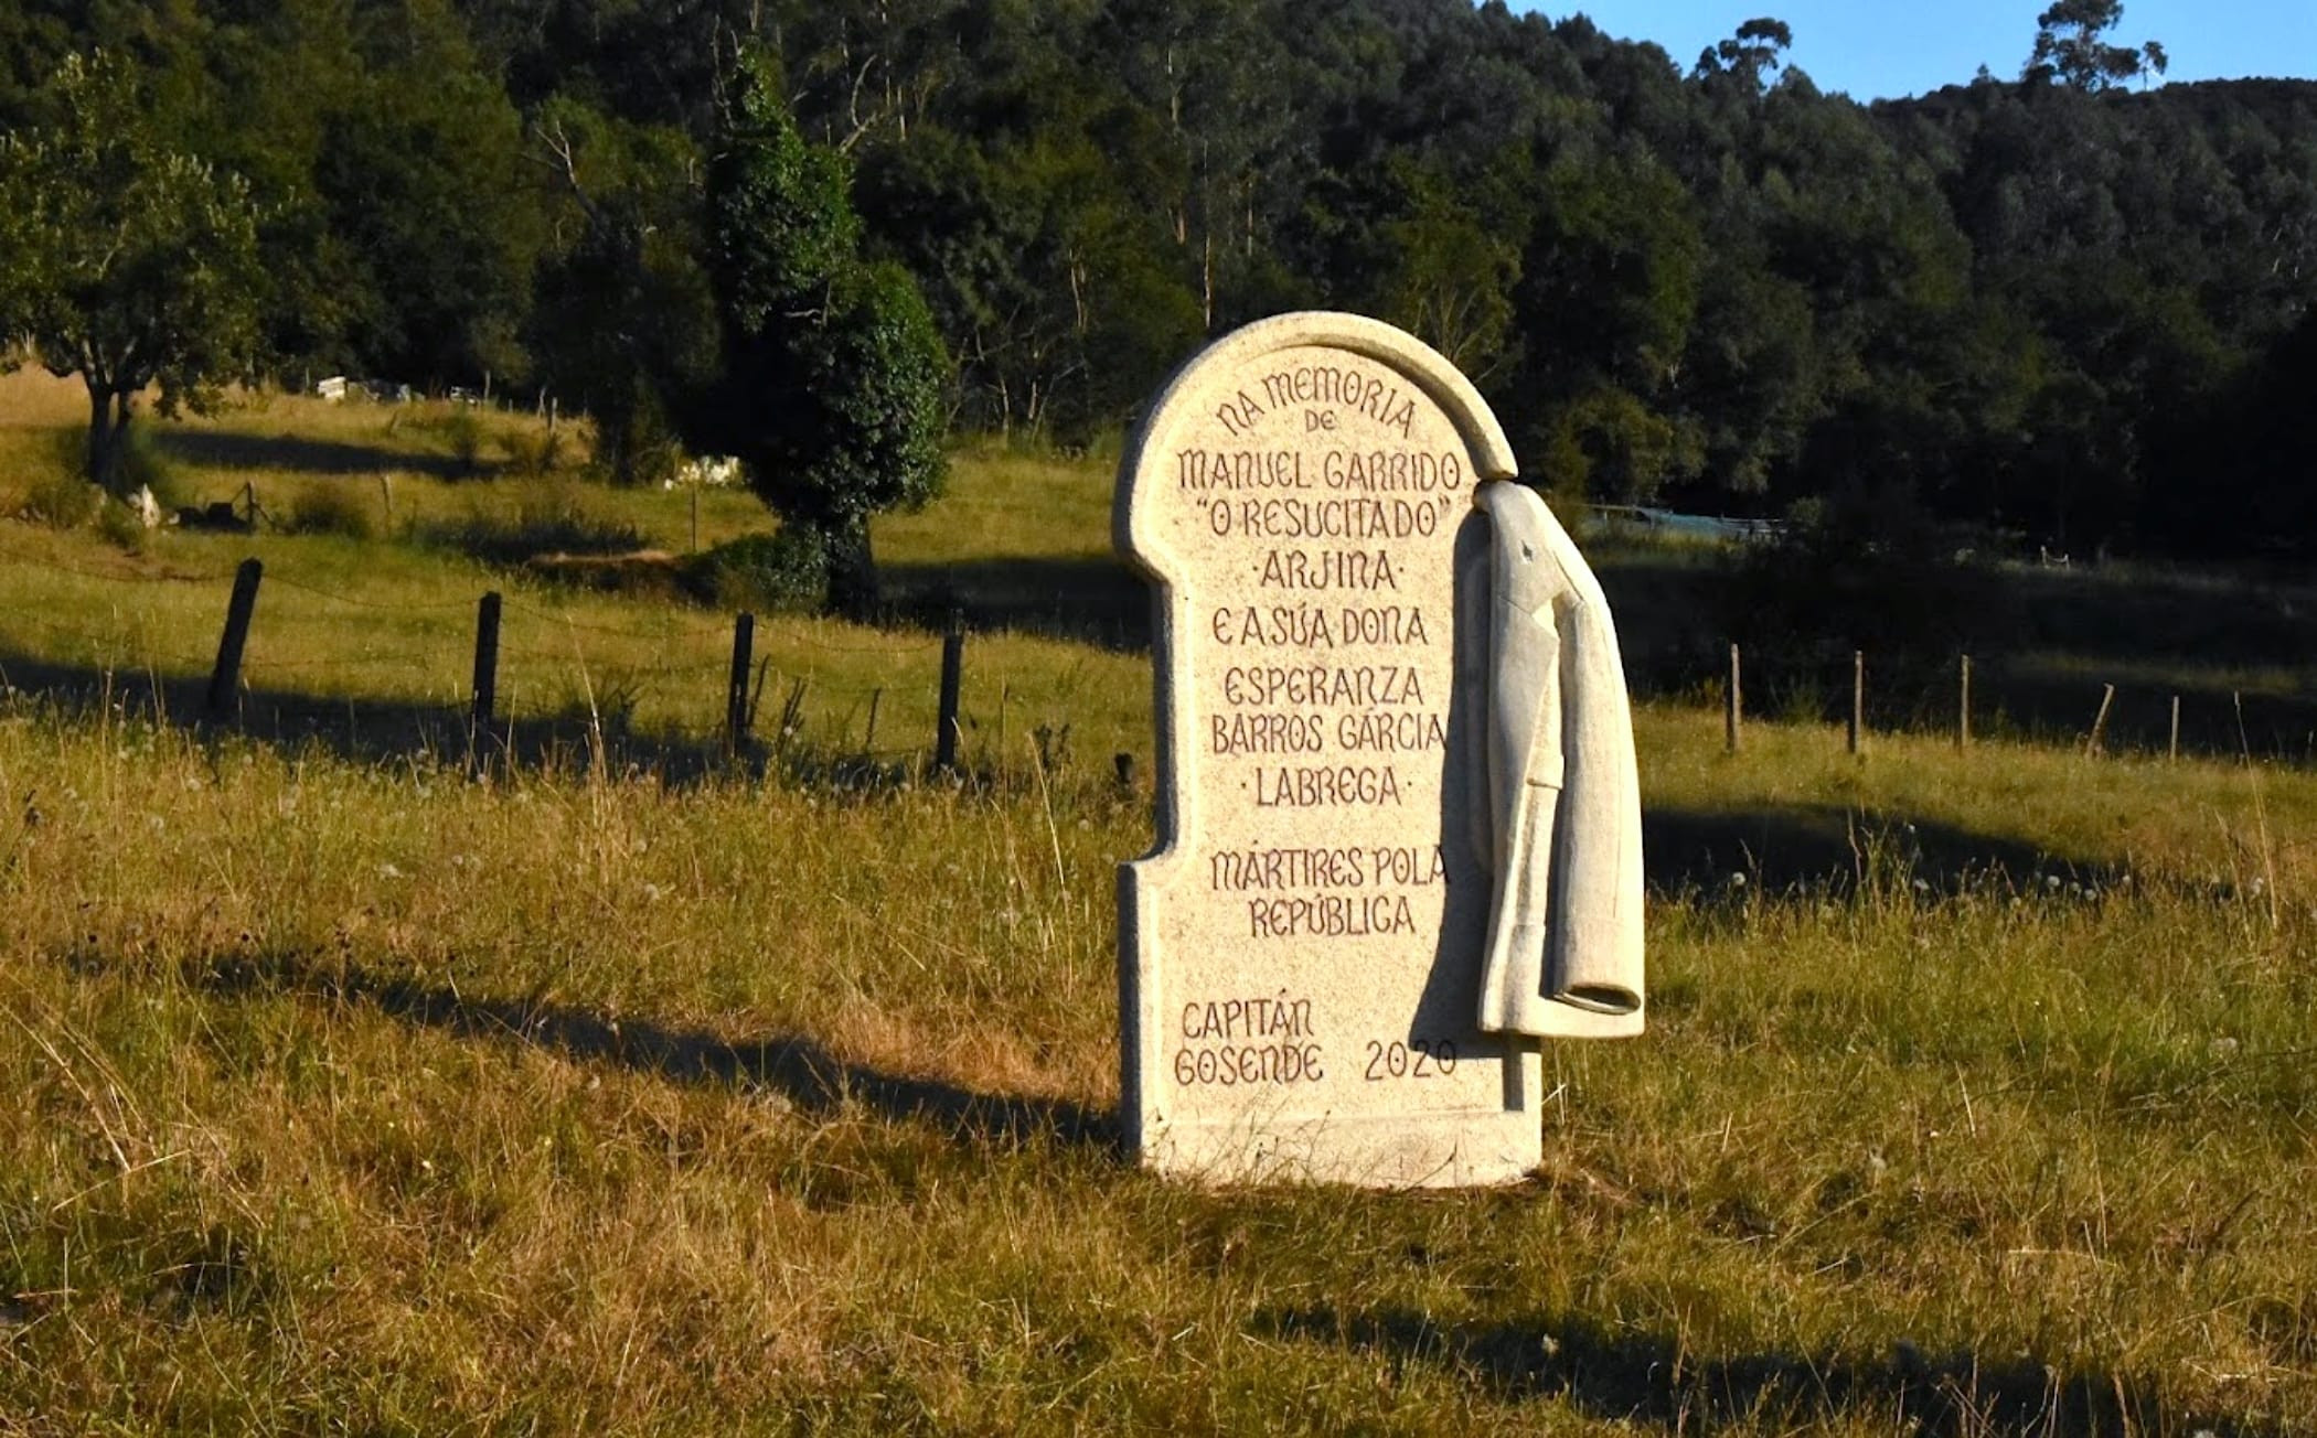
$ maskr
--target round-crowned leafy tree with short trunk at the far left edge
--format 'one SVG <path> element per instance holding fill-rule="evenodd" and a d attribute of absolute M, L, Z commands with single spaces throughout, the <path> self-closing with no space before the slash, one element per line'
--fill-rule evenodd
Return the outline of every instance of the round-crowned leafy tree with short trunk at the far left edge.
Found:
<path fill-rule="evenodd" d="M 49 123 L 0 141 L 0 354 L 88 387 L 88 477 L 120 491 L 137 398 L 209 410 L 257 354 L 264 276 L 248 188 L 169 148 L 139 72 L 72 56 Z"/>

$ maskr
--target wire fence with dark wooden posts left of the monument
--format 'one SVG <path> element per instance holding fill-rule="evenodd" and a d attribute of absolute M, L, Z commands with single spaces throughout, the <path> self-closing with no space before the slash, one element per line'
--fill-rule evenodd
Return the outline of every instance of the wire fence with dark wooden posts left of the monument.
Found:
<path fill-rule="evenodd" d="M 12 563 L 107 588 L 151 581 L 49 558 Z M 271 602 L 260 604 L 260 590 Z M 153 602 L 151 590 L 141 604 L 116 602 L 111 623 L 86 607 L 19 609 L 0 616 L 0 637 L 16 639 L 16 653 L 0 662 L 0 683 L 16 690 L 86 688 L 127 699 L 144 688 L 155 711 L 188 722 L 334 739 L 368 729 L 375 746 L 364 748 L 415 736 L 512 757 L 526 739 L 540 746 L 584 732 L 598 743 L 609 734 L 725 757 L 818 748 L 957 766 L 957 739 L 973 725 L 959 713 L 964 632 L 955 623 L 948 634 L 876 639 L 839 639 L 825 621 L 783 621 L 767 632 L 748 614 L 677 609 L 614 623 L 500 593 L 380 600 L 266 574 L 255 558 L 236 570 L 225 628 L 209 637 L 181 600 Z M 862 676 L 864 667 L 874 674 Z"/>

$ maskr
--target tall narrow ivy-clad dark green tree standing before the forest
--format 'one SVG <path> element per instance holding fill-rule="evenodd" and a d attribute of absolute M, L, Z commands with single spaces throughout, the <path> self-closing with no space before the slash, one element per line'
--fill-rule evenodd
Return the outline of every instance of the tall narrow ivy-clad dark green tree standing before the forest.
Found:
<path fill-rule="evenodd" d="M 688 428 L 746 461 L 857 614 L 876 602 L 869 516 L 941 489 L 950 359 L 908 271 L 862 259 L 848 190 L 843 155 L 809 144 L 772 67 L 744 58 L 707 169 L 723 377 Z"/>

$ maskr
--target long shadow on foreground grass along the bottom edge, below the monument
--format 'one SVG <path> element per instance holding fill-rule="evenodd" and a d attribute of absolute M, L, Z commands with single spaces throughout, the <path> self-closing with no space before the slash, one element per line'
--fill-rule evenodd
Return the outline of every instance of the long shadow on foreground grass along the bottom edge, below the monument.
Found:
<path fill-rule="evenodd" d="M 1928 1357 L 1912 1345 L 1900 1345 L 1888 1362 L 1784 1352 L 1698 1359 L 1668 1338 L 1610 1334 L 1583 1318 L 1439 1325 L 1411 1311 L 1288 1308 L 1256 1315 L 1253 1327 L 1272 1338 L 1355 1348 L 1395 1364 L 1453 1366 L 1506 1399 L 1557 1396 L 1596 1419 L 1671 1431 L 1842 1419 L 1918 1438 L 2194 1431 L 2241 1438 L 2261 1431 L 2166 1413 L 2148 1382 L 2118 1373 L 2057 1373 L 2030 1359 L 1990 1364 L 1972 1352 Z"/>

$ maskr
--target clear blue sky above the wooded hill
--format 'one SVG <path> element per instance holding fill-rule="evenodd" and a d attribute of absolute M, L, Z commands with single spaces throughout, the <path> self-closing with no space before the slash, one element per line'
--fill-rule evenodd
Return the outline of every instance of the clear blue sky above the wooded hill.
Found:
<path fill-rule="evenodd" d="M 2044 5 L 2048 0 L 1543 0 L 1522 9 L 1552 19 L 1585 12 L 1610 35 L 1654 39 L 1682 69 L 1742 21 L 1775 16 L 1793 25 L 1789 60 L 1821 90 L 1881 100 L 1965 83 L 1981 65 L 2018 79 Z M 2317 0 L 2125 0 L 2125 21 L 2108 39 L 2162 42 L 2171 56 L 2164 79 L 2173 81 L 2310 79 L 2317 76 Z"/>

